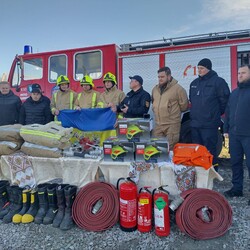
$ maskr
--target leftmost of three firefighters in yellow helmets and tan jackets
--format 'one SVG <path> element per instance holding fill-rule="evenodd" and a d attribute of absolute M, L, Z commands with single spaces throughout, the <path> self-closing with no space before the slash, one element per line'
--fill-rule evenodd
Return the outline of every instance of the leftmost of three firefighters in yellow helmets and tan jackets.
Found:
<path fill-rule="evenodd" d="M 70 89 L 69 78 L 60 75 L 56 81 L 59 90 L 55 92 L 51 99 L 51 113 L 55 116 L 59 115 L 60 110 L 73 109 L 77 94 Z"/>

